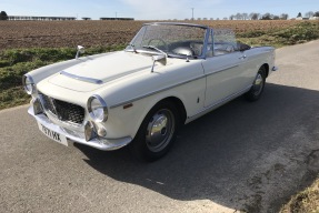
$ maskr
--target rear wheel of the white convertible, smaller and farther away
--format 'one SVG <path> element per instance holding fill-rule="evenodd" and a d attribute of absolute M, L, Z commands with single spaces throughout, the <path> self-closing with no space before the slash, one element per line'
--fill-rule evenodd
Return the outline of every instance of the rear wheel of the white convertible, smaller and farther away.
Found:
<path fill-rule="evenodd" d="M 257 101 L 262 94 L 265 83 L 266 83 L 266 69 L 265 67 L 261 67 L 257 72 L 252 87 L 245 95 L 246 99 L 251 102 Z"/>

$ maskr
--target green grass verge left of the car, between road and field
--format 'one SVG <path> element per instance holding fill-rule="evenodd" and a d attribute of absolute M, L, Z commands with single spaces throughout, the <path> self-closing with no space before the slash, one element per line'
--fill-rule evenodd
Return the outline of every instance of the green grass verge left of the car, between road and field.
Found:
<path fill-rule="evenodd" d="M 97 47 L 86 50 L 82 55 L 97 54 L 123 49 L 124 45 Z M 30 101 L 22 89 L 22 75 L 37 68 L 73 59 L 76 49 L 10 49 L 0 52 L 0 110 L 21 105 Z"/>

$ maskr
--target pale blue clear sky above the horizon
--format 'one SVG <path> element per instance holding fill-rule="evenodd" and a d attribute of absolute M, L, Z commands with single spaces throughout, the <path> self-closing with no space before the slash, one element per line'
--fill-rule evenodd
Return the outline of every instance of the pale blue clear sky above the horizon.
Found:
<path fill-rule="evenodd" d="M 229 18 L 237 12 L 288 13 L 319 11 L 319 0 L 0 0 L 0 11 L 9 16 L 134 18 L 167 20 L 191 18 Z"/>

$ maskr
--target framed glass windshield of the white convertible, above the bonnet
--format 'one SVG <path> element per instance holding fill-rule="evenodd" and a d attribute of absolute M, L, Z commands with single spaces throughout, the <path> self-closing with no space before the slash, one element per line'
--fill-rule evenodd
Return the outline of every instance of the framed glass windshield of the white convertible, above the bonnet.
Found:
<path fill-rule="evenodd" d="M 206 29 L 187 24 L 147 24 L 127 47 L 127 51 L 166 53 L 169 57 L 200 57 Z"/>

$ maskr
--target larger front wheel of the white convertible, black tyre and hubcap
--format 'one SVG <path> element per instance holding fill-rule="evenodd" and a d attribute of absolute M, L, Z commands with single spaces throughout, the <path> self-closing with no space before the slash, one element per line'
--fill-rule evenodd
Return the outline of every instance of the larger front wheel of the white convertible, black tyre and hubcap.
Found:
<path fill-rule="evenodd" d="M 176 140 L 179 126 L 180 116 L 176 105 L 169 101 L 159 102 L 147 114 L 130 143 L 131 153 L 148 162 L 162 158 Z"/>

